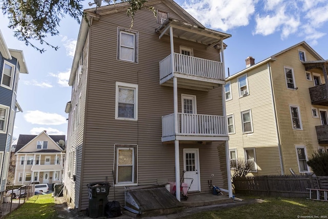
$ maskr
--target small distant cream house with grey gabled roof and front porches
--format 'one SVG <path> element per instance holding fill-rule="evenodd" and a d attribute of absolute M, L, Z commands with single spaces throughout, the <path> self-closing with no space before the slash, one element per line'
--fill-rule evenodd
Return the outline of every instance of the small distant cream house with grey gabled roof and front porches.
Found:
<path fill-rule="evenodd" d="M 65 157 L 65 135 L 20 134 L 15 155 L 14 185 L 61 183 Z"/>

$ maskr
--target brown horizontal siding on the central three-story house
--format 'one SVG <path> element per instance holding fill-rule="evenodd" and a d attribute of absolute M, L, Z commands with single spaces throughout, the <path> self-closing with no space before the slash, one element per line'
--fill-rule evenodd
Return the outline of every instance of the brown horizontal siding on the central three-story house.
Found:
<path fill-rule="evenodd" d="M 165 11 L 165 8 L 161 10 Z M 177 16 L 173 13 L 170 11 L 170 16 Z M 156 184 L 158 178 L 175 180 L 174 145 L 161 143 L 161 116 L 173 113 L 173 88 L 159 85 L 159 61 L 170 54 L 169 37 L 158 39 L 158 34 L 155 33 L 159 26 L 156 18 L 152 12 L 142 9 L 136 14 L 132 27 L 132 30 L 138 31 L 139 34 L 139 62 L 135 64 L 117 61 L 117 27 L 129 29 L 130 22 L 125 12 L 102 16 L 99 21 L 93 21 L 89 33 L 90 63 L 86 91 L 83 167 L 80 194 L 75 194 L 75 197 L 80 196 L 81 202 L 75 206 L 79 210 L 88 207 L 88 183 L 108 181 L 112 184 L 115 144 L 138 145 L 138 185 Z M 214 48 L 206 50 L 206 47 L 200 44 L 174 38 L 175 52 L 179 52 L 180 45 L 192 47 L 194 56 L 219 61 L 218 51 Z M 138 85 L 138 121 L 115 120 L 116 82 Z M 222 115 L 221 89 L 218 87 L 209 92 L 178 89 L 179 112 L 181 93 L 185 93 L 197 96 L 198 114 Z M 74 144 L 78 142 L 73 139 L 70 141 Z M 180 144 L 181 172 L 183 148 L 199 148 L 203 192 L 209 192 L 207 180 L 211 174 L 215 175 L 213 183 L 227 188 L 225 151 L 222 145 L 224 144 L 219 142 L 206 145 Z M 124 203 L 123 191 L 124 187 L 115 187 L 115 199 L 121 203 Z M 109 200 L 112 199 L 113 188 L 110 189 L 109 195 Z"/>

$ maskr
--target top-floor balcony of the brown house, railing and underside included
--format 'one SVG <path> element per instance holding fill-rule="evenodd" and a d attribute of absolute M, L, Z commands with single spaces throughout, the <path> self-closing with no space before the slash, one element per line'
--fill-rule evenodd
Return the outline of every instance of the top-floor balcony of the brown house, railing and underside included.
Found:
<path fill-rule="evenodd" d="M 179 88 L 209 91 L 225 83 L 223 63 L 174 53 L 159 62 L 160 85 L 173 86 L 173 77 L 178 78 Z"/>

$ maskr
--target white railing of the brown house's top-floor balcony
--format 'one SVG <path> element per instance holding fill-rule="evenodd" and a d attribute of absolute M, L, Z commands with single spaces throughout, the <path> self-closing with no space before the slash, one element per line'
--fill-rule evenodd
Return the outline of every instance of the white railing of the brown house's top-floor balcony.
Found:
<path fill-rule="evenodd" d="M 223 63 L 174 53 L 174 72 L 224 80 Z M 159 62 L 160 79 L 172 73 L 171 54 Z"/>

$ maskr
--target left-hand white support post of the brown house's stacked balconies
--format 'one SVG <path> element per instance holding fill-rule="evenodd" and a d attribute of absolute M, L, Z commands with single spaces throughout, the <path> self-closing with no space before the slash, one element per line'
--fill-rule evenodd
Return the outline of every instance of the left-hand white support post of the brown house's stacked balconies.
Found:
<path fill-rule="evenodd" d="M 171 71 L 173 74 L 173 106 L 174 106 L 174 135 L 178 131 L 178 81 L 174 76 L 174 43 L 173 43 L 173 28 L 170 27 L 170 43 L 171 43 Z M 176 137 L 175 137 L 176 139 Z M 180 202 L 180 158 L 179 158 L 179 141 L 174 141 L 175 154 L 175 196 Z"/>

